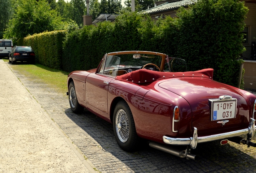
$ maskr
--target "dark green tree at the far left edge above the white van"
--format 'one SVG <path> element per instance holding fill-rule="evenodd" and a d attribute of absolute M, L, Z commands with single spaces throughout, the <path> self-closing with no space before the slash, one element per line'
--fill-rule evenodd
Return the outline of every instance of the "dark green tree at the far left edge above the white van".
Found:
<path fill-rule="evenodd" d="M 8 20 L 11 15 L 11 2 L 10 0 L 0 0 L 0 38 L 3 37 L 4 31 L 8 25 Z"/>

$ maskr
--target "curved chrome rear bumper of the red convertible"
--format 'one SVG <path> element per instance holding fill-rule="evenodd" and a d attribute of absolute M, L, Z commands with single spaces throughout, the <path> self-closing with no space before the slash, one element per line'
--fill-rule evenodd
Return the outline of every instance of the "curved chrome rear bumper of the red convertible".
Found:
<path fill-rule="evenodd" d="M 246 129 L 232 131 L 227 133 L 220 133 L 216 135 L 198 137 L 197 129 L 194 127 L 193 137 L 190 138 L 171 138 L 167 136 L 163 136 L 163 141 L 170 145 L 190 145 L 192 149 L 195 149 L 198 143 L 205 143 L 210 141 L 216 141 L 221 139 L 227 139 L 231 137 L 236 137 L 240 135 L 247 135 L 248 141 L 252 139 L 255 132 L 255 120 L 250 119 L 249 127 Z"/>

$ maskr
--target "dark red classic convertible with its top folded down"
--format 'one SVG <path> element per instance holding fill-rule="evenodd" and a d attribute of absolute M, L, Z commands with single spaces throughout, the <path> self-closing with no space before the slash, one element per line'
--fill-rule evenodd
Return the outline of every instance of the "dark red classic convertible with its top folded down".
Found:
<path fill-rule="evenodd" d="M 209 141 L 256 147 L 256 97 L 214 81 L 212 68 L 186 72 L 184 60 L 166 54 L 112 52 L 97 69 L 71 72 L 67 84 L 72 111 L 86 108 L 112 123 L 125 151 L 134 151 L 139 139 L 187 159 L 196 159 L 191 149 Z"/>

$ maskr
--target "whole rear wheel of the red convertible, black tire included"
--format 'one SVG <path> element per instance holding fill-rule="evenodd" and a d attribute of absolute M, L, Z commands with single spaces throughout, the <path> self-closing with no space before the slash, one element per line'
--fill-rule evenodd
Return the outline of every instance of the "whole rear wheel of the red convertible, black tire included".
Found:
<path fill-rule="evenodd" d="M 125 101 L 119 101 L 114 109 L 113 128 L 121 149 L 128 152 L 138 149 L 140 138 L 136 133 L 132 112 Z"/>

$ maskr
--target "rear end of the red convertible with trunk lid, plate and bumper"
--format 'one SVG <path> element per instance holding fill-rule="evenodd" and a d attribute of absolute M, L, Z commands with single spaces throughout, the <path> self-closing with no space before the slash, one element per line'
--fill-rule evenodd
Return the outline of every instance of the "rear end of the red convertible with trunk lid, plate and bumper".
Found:
<path fill-rule="evenodd" d="M 183 123 L 188 123 L 187 120 L 190 119 L 192 129 L 190 134 L 182 135 L 182 138 L 165 135 L 164 143 L 187 145 L 195 149 L 198 143 L 220 140 L 221 144 L 225 144 L 228 139 L 256 147 L 251 141 L 255 131 L 256 97 L 253 94 L 211 78 L 195 76 L 172 78 L 161 82 L 159 87 L 185 99 L 192 112 L 190 117 L 184 117 L 186 113 L 177 104 L 173 111 L 173 126 L 184 127 Z M 180 131 L 179 128 L 173 129 L 173 133 Z M 247 137 L 243 139 L 241 135 Z M 189 157 L 188 155 L 187 158 Z"/>

